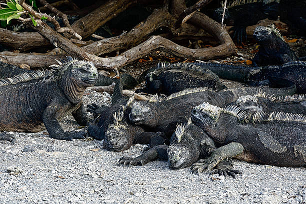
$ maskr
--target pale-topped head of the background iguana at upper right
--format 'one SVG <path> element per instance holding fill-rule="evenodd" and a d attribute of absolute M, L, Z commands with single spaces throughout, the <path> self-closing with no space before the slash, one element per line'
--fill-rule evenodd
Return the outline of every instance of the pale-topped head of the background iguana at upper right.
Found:
<path fill-rule="evenodd" d="M 284 40 L 274 24 L 268 26 L 258 25 L 254 30 L 253 37 L 258 43 L 270 42 L 274 40 L 275 37 Z"/>

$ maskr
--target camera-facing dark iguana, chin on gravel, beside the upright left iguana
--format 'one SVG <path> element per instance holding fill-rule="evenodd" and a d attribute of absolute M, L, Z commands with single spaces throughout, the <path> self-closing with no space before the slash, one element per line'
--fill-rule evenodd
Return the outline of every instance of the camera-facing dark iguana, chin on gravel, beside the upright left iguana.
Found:
<path fill-rule="evenodd" d="M 93 123 L 89 123 L 88 134 L 96 139 L 104 139 L 104 147 L 107 150 L 123 151 L 135 143 L 146 143 L 150 146 L 163 143 L 163 133 L 147 132 L 128 121 L 133 97 L 123 96 L 122 87 L 131 84 L 134 80 L 128 74 L 120 76 L 114 88 L 110 107 L 95 104 L 87 106 L 87 110 L 97 116 Z"/>

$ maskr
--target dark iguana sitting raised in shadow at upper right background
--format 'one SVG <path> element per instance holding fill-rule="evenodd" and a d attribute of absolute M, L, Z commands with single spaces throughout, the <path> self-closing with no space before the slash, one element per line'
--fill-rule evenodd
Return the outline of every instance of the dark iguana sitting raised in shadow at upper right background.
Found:
<path fill-rule="evenodd" d="M 258 52 L 252 59 L 253 66 L 281 65 L 288 61 L 297 60 L 295 53 L 284 41 L 274 24 L 257 26 L 253 37 L 260 45 Z"/>

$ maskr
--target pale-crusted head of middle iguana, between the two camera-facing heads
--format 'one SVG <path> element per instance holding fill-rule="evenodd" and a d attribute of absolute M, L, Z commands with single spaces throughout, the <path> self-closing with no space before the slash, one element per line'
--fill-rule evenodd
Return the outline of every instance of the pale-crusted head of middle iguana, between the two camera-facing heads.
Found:
<path fill-rule="evenodd" d="M 129 120 L 134 124 L 156 126 L 158 114 L 154 105 L 156 104 L 148 101 L 134 102 L 128 116 Z"/>

